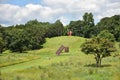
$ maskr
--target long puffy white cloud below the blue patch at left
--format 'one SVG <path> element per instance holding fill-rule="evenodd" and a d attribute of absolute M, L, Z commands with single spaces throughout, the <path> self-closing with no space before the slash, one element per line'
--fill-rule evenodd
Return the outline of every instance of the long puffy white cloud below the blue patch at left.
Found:
<path fill-rule="evenodd" d="M 27 4 L 24 7 L 0 4 L 1 24 L 20 24 L 31 19 L 40 21 L 52 21 L 56 15 L 61 14 L 62 9 L 52 9 L 41 5 Z"/>

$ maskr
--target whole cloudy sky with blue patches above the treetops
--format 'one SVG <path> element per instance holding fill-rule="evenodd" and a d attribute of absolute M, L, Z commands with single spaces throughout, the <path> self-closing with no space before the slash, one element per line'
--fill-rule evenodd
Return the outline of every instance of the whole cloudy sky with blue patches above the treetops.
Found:
<path fill-rule="evenodd" d="M 82 20 L 85 12 L 94 15 L 95 23 L 104 17 L 120 15 L 120 0 L 0 0 L 0 24 L 24 24 L 37 19 L 63 25 Z"/>

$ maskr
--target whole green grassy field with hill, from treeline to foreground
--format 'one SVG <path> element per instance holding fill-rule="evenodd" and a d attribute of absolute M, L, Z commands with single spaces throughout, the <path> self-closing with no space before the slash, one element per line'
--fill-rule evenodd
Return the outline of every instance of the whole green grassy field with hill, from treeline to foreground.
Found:
<path fill-rule="evenodd" d="M 40 50 L 0 54 L 0 80 L 120 80 L 120 50 L 95 66 L 93 55 L 81 52 L 81 37 L 61 36 L 47 38 Z M 68 46 L 60 56 L 55 54 L 61 46 Z"/>

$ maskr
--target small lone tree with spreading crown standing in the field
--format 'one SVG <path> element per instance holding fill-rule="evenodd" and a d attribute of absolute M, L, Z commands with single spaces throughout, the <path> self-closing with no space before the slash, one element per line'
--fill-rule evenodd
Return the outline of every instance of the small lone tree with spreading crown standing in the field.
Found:
<path fill-rule="evenodd" d="M 100 67 L 102 58 L 110 56 L 111 52 L 116 51 L 116 48 L 112 41 L 95 37 L 83 43 L 82 51 L 85 54 L 93 54 L 95 56 L 96 66 Z"/>

